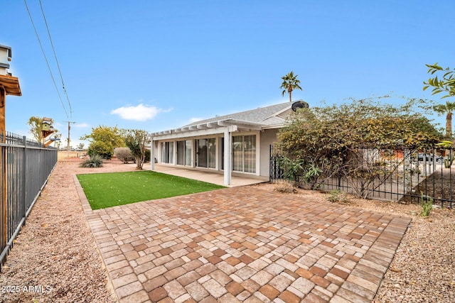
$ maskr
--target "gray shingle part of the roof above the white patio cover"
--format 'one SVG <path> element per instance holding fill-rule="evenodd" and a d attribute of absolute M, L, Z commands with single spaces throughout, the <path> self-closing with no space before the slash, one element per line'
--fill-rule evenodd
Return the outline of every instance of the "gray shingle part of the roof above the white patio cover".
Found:
<path fill-rule="evenodd" d="M 228 114 L 224 116 L 216 116 L 211 119 L 205 119 L 201 121 L 196 121 L 191 124 L 187 124 L 186 126 L 196 126 L 202 123 L 209 123 L 215 121 L 223 121 L 227 119 L 234 119 L 252 123 L 261 123 L 264 125 L 274 125 L 277 123 L 282 123 L 284 119 L 280 119 L 274 115 L 279 114 L 280 112 L 284 111 L 285 109 L 291 108 L 291 102 L 274 104 L 271 106 L 265 107 L 258 107 L 257 109 L 252 109 L 250 111 L 241 111 L 240 113 L 235 114 Z M 186 127 L 184 126 L 184 127 Z"/>

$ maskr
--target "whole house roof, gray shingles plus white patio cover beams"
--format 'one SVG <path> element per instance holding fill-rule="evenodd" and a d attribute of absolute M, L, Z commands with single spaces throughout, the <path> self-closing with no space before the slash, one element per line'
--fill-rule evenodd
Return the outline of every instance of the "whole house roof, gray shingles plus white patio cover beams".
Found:
<path fill-rule="evenodd" d="M 240 111 L 235 114 L 215 116 L 210 119 L 187 124 L 181 128 L 151 133 L 151 136 L 169 136 L 174 133 L 202 131 L 225 126 L 236 126 L 238 130 L 259 131 L 264 128 L 279 128 L 286 122 L 287 112 L 291 110 L 291 106 L 292 103 L 286 102 L 271 106 L 258 107 L 257 109 L 252 109 L 250 111 Z"/>

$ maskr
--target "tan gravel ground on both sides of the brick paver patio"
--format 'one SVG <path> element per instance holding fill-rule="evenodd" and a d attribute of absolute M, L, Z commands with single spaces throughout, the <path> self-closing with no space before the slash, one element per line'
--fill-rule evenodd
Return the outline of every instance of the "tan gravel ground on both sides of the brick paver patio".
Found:
<path fill-rule="evenodd" d="M 58 162 L 1 268 L 0 302 L 115 302 L 73 175 L 134 167 L 110 161 L 87 169 Z M 274 189 L 272 184 L 258 186 Z M 301 189 L 296 195 L 327 199 L 326 194 Z M 353 198 L 344 203 L 412 217 L 373 302 L 455 302 L 453 210 L 435 209 L 424 218 L 418 216 L 417 205 Z"/>

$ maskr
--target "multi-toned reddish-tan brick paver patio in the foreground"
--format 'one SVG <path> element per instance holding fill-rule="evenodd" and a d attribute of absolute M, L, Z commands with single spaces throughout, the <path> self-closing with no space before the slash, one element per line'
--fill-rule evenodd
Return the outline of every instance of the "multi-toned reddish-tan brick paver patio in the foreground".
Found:
<path fill-rule="evenodd" d="M 97 211 L 78 191 L 119 302 L 371 302 L 411 221 L 257 187 Z"/>

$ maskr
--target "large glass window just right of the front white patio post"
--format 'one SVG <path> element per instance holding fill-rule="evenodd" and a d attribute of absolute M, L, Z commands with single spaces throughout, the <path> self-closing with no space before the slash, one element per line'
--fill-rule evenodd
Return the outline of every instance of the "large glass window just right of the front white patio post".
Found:
<path fill-rule="evenodd" d="M 256 172 L 256 135 L 232 136 L 232 170 Z"/>

